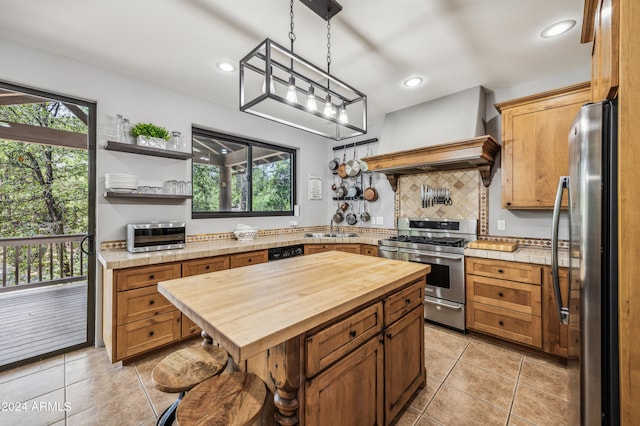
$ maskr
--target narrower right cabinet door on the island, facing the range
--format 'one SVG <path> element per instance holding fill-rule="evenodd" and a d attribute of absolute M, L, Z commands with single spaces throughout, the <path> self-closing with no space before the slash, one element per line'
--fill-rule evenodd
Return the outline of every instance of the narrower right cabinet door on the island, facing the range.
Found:
<path fill-rule="evenodd" d="M 389 423 L 426 383 L 422 306 L 385 330 L 384 353 L 384 406 Z"/>

